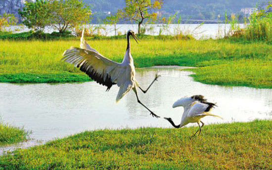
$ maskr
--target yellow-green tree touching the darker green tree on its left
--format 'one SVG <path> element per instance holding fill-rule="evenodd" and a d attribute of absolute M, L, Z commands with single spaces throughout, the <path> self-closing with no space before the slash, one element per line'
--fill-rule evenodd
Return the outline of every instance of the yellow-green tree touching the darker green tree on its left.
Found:
<path fill-rule="evenodd" d="M 66 29 L 88 23 L 91 18 L 90 6 L 82 0 L 50 0 L 51 26 L 63 33 Z"/>

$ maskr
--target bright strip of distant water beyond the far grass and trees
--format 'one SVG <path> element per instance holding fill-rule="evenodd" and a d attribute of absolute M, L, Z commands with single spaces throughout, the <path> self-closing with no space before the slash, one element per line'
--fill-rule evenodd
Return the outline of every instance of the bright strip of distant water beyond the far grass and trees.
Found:
<path fill-rule="evenodd" d="M 99 30 L 100 35 L 103 36 L 114 36 L 115 28 L 114 25 L 104 25 L 104 24 L 93 24 L 86 26 L 87 28 L 95 29 L 94 34 L 97 34 Z M 239 24 L 240 28 L 244 28 L 244 24 Z M 24 32 L 30 31 L 30 29 L 24 27 L 19 29 L 19 31 L 15 31 L 18 26 L 11 26 L 9 29 L 13 32 Z M 148 24 L 146 26 L 146 32 L 144 34 L 148 35 L 159 35 L 160 30 L 162 30 L 162 35 L 176 35 L 180 32 L 183 34 L 190 34 L 196 39 L 207 39 L 207 38 L 221 38 L 224 37 L 225 33 L 228 32 L 230 28 L 230 24 L 169 24 L 168 26 L 157 25 L 157 24 Z M 138 25 L 136 24 L 117 24 L 116 25 L 117 34 L 120 32 L 121 34 L 126 34 L 128 30 L 134 30 L 137 32 Z M 45 28 L 45 33 L 51 33 L 56 31 L 52 28 Z"/>

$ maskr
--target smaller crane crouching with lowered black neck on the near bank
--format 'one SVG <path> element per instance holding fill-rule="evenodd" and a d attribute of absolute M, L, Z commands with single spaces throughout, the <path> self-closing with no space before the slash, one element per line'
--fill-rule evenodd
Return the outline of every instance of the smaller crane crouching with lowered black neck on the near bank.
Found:
<path fill-rule="evenodd" d="M 184 108 L 180 125 L 175 125 L 171 118 L 164 118 L 164 119 L 168 120 L 171 123 L 171 125 L 176 128 L 183 127 L 187 125 L 188 123 L 197 123 L 199 126 L 199 129 L 192 136 L 195 136 L 195 134 L 198 131 L 200 134 L 201 127 L 204 126 L 204 123 L 200 121 L 201 118 L 205 116 L 219 117 L 217 115 L 213 115 L 210 113 L 211 109 L 216 105 L 214 103 L 207 102 L 207 99 L 204 99 L 203 95 L 193 95 L 193 96 L 182 97 L 181 99 L 177 100 L 173 104 L 172 107 L 175 108 L 179 106 L 182 106 Z M 199 122 L 202 123 L 201 127 L 199 125 Z"/>

